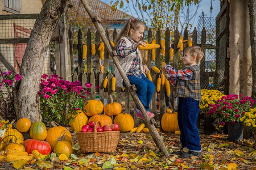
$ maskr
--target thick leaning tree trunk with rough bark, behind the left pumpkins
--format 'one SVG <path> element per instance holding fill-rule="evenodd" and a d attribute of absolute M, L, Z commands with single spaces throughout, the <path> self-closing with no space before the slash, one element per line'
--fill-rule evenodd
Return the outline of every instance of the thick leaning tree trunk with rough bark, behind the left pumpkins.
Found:
<path fill-rule="evenodd" d="M 31 122 L 41 121 L 38 91 L 43 63 L 49 42 L 61 15 L 67 10 L 68 2 L 69 0 L 47 0 L 36 19 L 22 59 L 22 80 L 15 85 L 14 108 L 18 119 L 26 117 Z"/>

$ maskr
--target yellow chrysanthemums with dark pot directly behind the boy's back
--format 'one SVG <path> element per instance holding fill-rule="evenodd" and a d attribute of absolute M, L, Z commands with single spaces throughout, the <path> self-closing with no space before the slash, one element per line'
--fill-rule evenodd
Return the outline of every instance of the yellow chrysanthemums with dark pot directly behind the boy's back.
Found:
<path fill-rule="evenodd" d="M 200 114 L 204 117 L 204 133 L 205 134 L 216 134 L 216 123 L 217 118 L 214 118 L 212 115 L 209 115 L 209 106 L 221 99 L 222 96 L 225 96 L 218 90 L 201 90 L 201 101 L 200 101 Z"/>

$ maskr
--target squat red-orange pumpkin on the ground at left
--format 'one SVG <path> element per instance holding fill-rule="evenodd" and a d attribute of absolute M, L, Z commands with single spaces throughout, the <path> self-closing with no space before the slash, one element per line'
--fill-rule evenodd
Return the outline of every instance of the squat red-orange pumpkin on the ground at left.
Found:
<path fill-rule="evenodd" d="M 31 154 L 34 150 L 38 150 L 38 152 L 43 155 L 51 154 L 51 145 L 49 145 L 49 143 L 46 141 L 27 139 L 24 141 L 23 145 L 28 154 Z"/>

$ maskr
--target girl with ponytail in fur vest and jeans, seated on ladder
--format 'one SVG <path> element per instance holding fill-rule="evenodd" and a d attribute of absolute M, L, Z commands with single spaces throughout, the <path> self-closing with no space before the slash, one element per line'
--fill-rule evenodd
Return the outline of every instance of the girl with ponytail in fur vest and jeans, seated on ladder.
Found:
<path fill-rule="evenodd" d="M 146 109 L 148 116 L 152 118 L 155 114 L 148 112 L 148 110 L 152 95 L 155 91 L 155 85 L 145 76 L 148 72 L 148 68 L 146 65 L 143 65 L 141 53 L 138 49 L 139 44 L 146 46 L 146 43 L 141 41 L 143 33 L 144 24 L 138 19 L 131 18 L 119 33 L 114 44 L 123 71 L 125 71 L 130 83 L 134 84 L 137 88 L 136 93 Z M 117 68 L 115 68 L 114 73 L 117 79 L 117 86 L 126 87 Z M 138 118 L 144 119 L 138 106 L 135 112 Z"/>

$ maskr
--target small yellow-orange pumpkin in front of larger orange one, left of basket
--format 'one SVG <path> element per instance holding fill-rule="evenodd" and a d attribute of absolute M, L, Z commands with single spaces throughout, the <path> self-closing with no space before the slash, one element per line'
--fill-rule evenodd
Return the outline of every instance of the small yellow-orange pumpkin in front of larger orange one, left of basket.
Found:
<path fill-rule="evenodd" d="M 55 154 L 65 154 L 69 158 L 69 156 L 73 153 L 73 148 L 71 143 L 67 141 L 59 141 L 54 147 L 54 152 Z"/>

